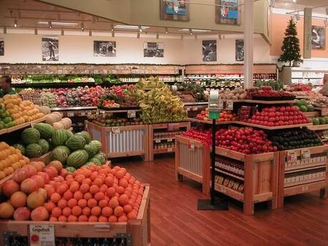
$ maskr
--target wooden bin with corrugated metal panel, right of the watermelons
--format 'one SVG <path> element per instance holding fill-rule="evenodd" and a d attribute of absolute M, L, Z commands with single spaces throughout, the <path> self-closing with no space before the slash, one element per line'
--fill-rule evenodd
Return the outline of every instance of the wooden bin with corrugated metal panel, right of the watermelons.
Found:
<path fill-rule="evenodd" d="M 122 156 L 144 156 L 148 161 L 148 125 L 125 127 L 100 127 L 92 122 L 85 122 L 92 139 L 102 142 L 102 151 L 108 158 Z"/>

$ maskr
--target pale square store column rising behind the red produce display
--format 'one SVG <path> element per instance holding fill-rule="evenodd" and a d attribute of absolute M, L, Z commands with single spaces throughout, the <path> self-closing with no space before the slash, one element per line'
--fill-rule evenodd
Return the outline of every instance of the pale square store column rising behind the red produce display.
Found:
<path fill-rule="evenodd" d="M 244 19 L 244 88 L 253 87 L 254 19 L 253 0 L 245 0 Z"/>

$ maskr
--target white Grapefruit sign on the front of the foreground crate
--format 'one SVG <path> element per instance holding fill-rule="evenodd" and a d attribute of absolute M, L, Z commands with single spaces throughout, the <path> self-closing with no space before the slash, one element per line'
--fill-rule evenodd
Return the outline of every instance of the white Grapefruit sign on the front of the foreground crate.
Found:
<path fill-rule="evenodd" d="M 53 225 L 29 225 L 30 246 L 55 246 Z"/>

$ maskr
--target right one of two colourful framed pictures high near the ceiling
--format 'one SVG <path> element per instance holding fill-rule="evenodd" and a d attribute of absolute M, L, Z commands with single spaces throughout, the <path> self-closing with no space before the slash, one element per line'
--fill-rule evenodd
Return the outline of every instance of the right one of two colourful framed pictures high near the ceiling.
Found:
<path fill-rule="evenodd" d="M 238 0 L 216 0 L 216 23 L 240 25 L 241 11 Z"/>

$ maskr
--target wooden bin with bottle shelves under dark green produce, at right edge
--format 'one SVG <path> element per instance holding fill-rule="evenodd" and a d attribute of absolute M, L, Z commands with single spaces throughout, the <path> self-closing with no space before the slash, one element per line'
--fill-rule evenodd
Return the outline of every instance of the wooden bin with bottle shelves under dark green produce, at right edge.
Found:
<path fill-rule="evenodd" d="M 310 159 L 307 151 L 310 152 Z M 312 191 L 319 191 L 321 198 L 326 196 L 327 152 L 327 145 L 280 151 L 278 208 L 283 207 L 285 196 Z M 293 156 L 296 156 L 296 161 Z"/>

